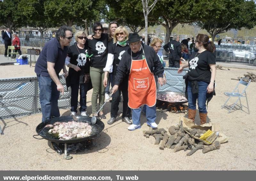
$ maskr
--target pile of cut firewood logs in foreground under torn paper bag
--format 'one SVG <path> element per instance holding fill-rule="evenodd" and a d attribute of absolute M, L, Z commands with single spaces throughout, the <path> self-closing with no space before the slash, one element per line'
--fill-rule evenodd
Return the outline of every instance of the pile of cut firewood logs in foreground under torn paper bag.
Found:
<path fill-rule="evenodd" d="M 187 156 L 192 155 L 199 149 L 203 149 L 203 153 L 220 149 L 219 141 L 214 141 L 210 146 L 204 146 L 203 142 L 192 138 L 190 135 L 200 138 L 205 131 L 196 128 L 185 128 L 182 125 L 182 121 L 179 122 L 179 125 L 172 125 L 168 131 L 170 134 L 167 133 L 167 131 L 163 128 L 153 130 L 150 127 L 148 131 L 143 131 L 143 134 L 146 136 L 146 138 L 153 135 L 153 137 L 156 139 L 155 145 L 159 145 L 160 141 L 162 140 L 159 147 L 161 150 L 163 150 L 165 147 L 173 149 L 174 153 L 180 150 L 190 150 L 190 152 L 187 153 Z"/>

